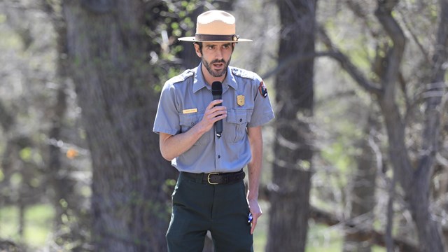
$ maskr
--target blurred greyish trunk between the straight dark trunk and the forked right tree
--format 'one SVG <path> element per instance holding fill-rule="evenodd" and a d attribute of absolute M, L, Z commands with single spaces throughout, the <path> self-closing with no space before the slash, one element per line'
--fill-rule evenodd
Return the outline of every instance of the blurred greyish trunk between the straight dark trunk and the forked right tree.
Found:
<path fill-rule="evenodd" d="M 347 229 L 344 237 L 344 252 L 370 252 L 368 236 L 363 236 L 363 230 L 372 230 L 373 228 L 373 209 L 375 200 L 375 179 L 377 178 L 377 167 L 374 165 L 374 155 L 369 141 L 372 141 L 372 127 L 377 125 L 374 118 L 369 116 L 363 137 L 358 140 L 358 149 L 360 155 L 355 157 L 357 160 L 356 171 L 351 178 L 350 190 L 350 219 L 356 223 L 357 228 Z M 359 230 L 360 229 L 360 230 Z"/>

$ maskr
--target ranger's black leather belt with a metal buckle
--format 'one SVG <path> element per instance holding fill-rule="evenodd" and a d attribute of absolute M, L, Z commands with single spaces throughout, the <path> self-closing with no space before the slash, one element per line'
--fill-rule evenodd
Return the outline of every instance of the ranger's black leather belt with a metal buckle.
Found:
<path fill-rule="evenodd" d="M 198 182 L 200 181 L 201 183 L 209 183 L 210 185 L 221 185 L 241 181 L 244 179 L 244 177 L 246 177 L 246 174 L 243 172 L 243 170 L 241 170 L 239 172 L 211 172 L 209 174 L 193 174 L 190 172 L 181 172 L 181 176 L 186 176 L 187 178 L 193 179 Z"/>

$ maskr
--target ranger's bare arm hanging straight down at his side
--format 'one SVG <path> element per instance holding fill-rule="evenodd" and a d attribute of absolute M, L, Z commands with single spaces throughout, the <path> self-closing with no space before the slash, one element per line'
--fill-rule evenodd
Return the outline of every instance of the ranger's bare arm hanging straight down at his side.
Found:
<path fill-rule="evenodd" d="M 252 160 L 248 163 L 248 192 L 247 201 L 253 216 L 251 234 L 255 230 L 258 218 L 262 215 L 260 204 L 258 204 L 258 187 L 260 186 L 260 175 L 262 166 L 262 132 L 261 126 L 248 127 L 249 143 L 251 144 Z"/>

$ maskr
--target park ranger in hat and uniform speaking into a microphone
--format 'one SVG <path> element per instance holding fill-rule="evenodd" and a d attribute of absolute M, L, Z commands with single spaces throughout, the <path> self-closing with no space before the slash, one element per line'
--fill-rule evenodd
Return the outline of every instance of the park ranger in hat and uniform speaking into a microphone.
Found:
<path fill-rule="evenodd" d="M 262 125 L 274 113 L 260 76 L 229 66 L 235 44 L 251 41 L 236 34 L 234 16 L 210 10 L 196 25 L 195 36 L 179 40 L 193 42 L 201 62 L 167 80 L 153 128 L 162 156 L 180 172 L 168 250 L 200 252 L 210 231 L 216 252 L 253 251 L 262 214 Z"/>

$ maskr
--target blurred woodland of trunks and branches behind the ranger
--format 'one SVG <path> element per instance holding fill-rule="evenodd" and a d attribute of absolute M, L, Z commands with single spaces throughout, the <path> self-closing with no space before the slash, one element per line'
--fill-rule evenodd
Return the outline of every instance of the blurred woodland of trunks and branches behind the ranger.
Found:
<path fill-rule="evenodd" d="M 0 251 L 166 251 L 153 120 L 216 8 L 276 113 L 255 251 L 447 251 L 448 0 L 0 0 Z"/>

